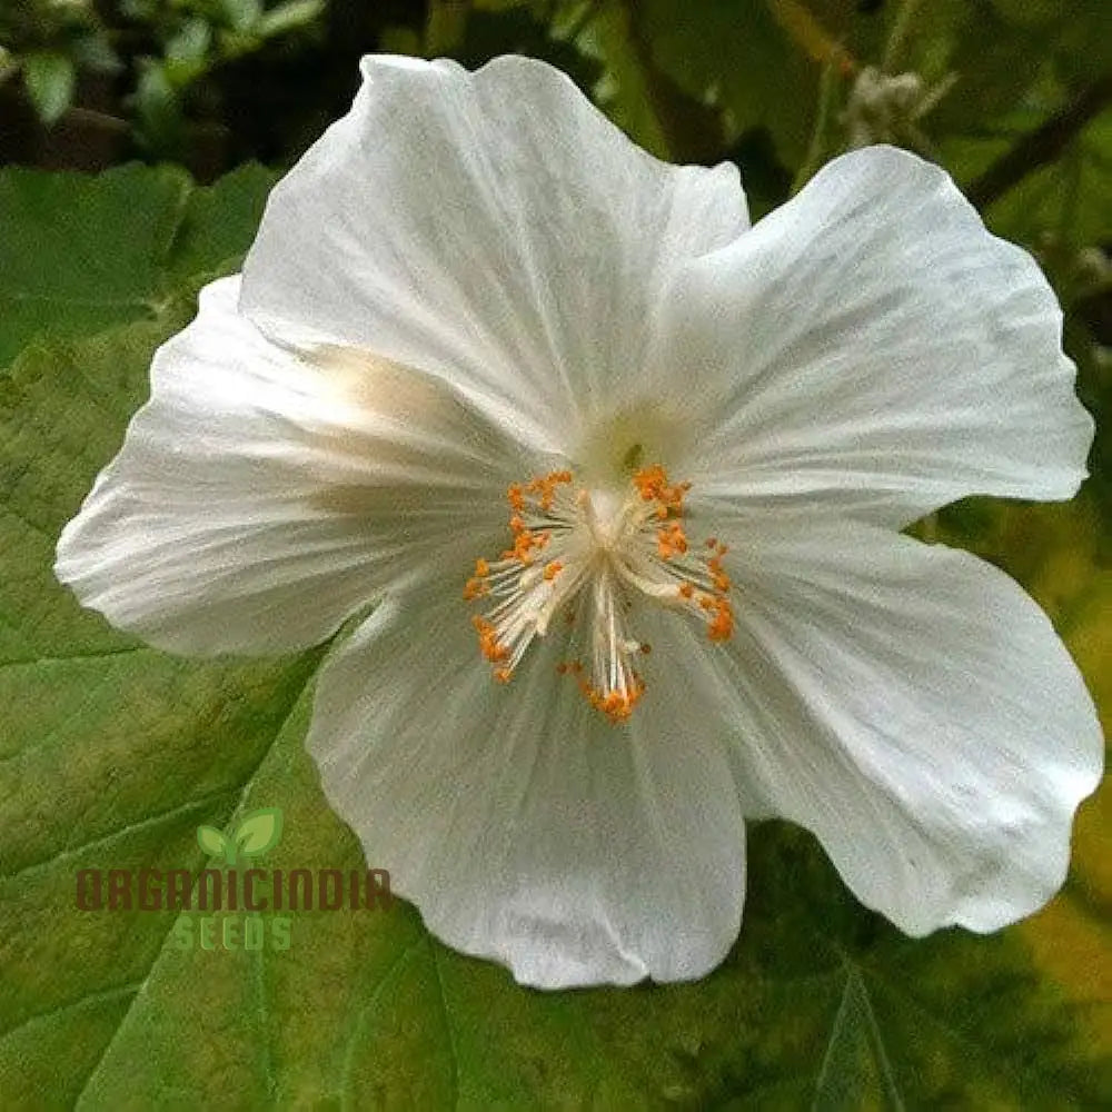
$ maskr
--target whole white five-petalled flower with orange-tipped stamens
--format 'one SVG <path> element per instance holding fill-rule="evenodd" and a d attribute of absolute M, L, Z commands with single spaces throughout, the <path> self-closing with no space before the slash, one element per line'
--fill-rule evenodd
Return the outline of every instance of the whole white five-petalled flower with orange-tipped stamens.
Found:
<path fill-rule="evenodd" d="M 910 934 L 1040 906 L 1092 703 L 1010 578 L 900 533 L 1084 476 L 1030 257 L 895 149 L 749 228 L 732 168 L 655 161 L 539 62 L 364 72 L 156 355 L 59 577 L 183 653 L 377 602 L 319 677 L 325 792 L 522 982 L 706 973 L 747 817 Z"/>

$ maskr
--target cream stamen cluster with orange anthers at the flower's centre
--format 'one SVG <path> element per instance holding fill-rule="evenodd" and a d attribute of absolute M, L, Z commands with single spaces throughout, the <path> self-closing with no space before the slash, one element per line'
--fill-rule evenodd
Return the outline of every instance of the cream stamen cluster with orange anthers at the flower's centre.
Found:
<path fill-rule="evenodd" d="M 567 470 L 510 486 L 510 547 L 476 560 L 464 587 L 464 598 L 488 607 L 471 622 L 495 678 L 508 682 L 533 638 L 562 616 L 580 652 L 558 671 L 592 706 L 624 722 L 645 692 L 636 664 L 649 646 L 627 628 L 638 600 L 686 610 L 712 641 L 727 639 L 726 546 L 713 537 L 688 545 L 689 486 L 669 483 L 658 464 L 635 471 L 624 492 L 578 486 Z"/>

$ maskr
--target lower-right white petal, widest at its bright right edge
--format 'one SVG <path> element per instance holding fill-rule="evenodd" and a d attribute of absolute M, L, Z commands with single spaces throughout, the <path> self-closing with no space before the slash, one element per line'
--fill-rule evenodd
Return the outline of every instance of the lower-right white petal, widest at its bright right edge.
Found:
<path fill-rule="evenodd" d="M 747 797 L 909 934 L 1045 903 L 1103 745 L 1039 607 L 966 553 L 867 525 L 738 537 L 733 558 L 734 639 L 703 657 Z"/>

